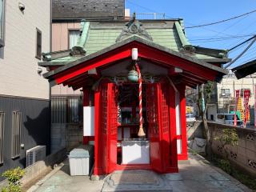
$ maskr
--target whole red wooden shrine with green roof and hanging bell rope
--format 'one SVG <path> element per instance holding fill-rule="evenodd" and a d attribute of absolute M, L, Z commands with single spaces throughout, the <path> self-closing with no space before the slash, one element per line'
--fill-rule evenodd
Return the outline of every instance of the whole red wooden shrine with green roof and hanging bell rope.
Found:
<path fill-rule="evenodd" d="M 51 86 L 82 88 L 94 174 L 178 172 L 186 160 L 186 86 L 220 81 L 225 50 L 192 46 L 182 19 L 82 21 L 77 45 L 43 54 Z M 140 85 L 140 86 L 139 86 Z"/>

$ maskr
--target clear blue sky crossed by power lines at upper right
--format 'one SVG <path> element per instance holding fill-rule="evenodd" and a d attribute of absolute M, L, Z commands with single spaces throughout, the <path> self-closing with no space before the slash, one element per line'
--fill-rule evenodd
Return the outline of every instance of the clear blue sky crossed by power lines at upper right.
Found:
<path fill-rule="evenodd" d="M 197 26 L 209 22 L 218 22 L 226 18 L 245 14 L 256 10 L 255 0 L 126 0 L 126 8 L 132 14 L 136 13 L 165 13 L 166 18 L 183 18 L 185 26 Z M 256 34 L 256 12 L 229 22 L 213 26 L 186 29 L 186 35 L 194 46 L 204 46 L 216 49 L 230 49 L 239 42 Z M 250 43 L 250 42 L 249 42 Z M 248 46 L 248 43 L 231 51 L 230 58 L 235 58 Z M 238 66 L 256 58 L 256 42 L 244 56 L 234 62 Z"/>

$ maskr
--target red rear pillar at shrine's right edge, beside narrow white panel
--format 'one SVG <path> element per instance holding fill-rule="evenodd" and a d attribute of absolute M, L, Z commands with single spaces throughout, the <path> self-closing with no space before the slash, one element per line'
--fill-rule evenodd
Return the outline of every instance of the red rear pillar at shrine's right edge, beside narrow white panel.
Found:
<path fill-rule="evenodd" d="M 182 153 L 178 154 L 178 160 L 187 160 L 187 140 L 186 140 L 186 97 L 185 97 L 185 85 L 178 86 L 179 98 L 180 98 L 180 117 L 182 128 Z"/>

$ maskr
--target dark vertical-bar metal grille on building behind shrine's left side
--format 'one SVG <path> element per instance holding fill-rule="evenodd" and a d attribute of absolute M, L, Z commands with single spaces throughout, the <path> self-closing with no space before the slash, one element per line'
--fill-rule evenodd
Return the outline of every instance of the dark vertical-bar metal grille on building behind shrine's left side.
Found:
<path fill-rule="evenodd" d="M 80 96 L 52 96 L 52 123 L 82 122 L 82 97 Z"/>

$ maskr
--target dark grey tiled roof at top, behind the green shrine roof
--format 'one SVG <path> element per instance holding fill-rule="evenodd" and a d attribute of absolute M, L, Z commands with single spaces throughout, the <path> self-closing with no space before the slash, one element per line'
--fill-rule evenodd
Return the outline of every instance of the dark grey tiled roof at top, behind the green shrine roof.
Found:
<path fill-rule="evenodd" d="M 52 18 L 124 18 L 124 0 L 53 0 Z"/>

